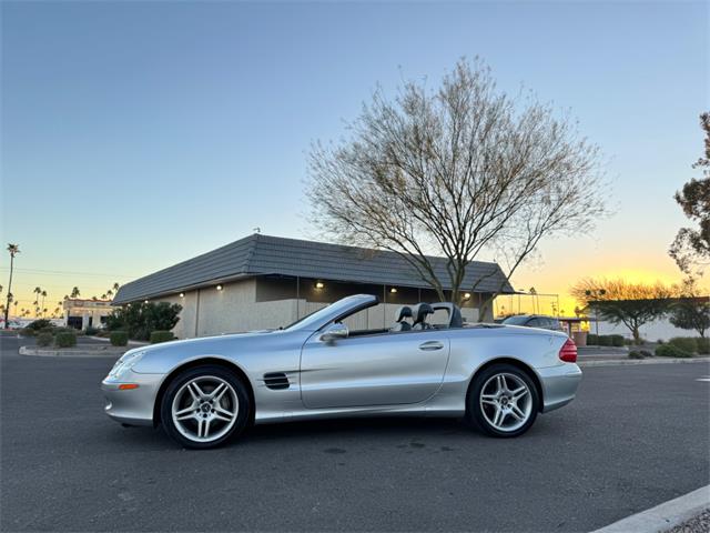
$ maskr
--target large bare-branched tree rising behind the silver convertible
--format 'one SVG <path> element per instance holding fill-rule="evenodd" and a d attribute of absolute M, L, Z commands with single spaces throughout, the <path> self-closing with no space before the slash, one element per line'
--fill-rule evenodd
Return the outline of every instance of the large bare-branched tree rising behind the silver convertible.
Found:
<path fill-rule="evenodd" d="M 497 90 L 478 60 L 460 60 L 436 91 L 376 91 L 348 130 L 312 148 L 314 223 L 399 253 L 442 300 L 460 302 L 481 281 L 463 285 L 476 258 L 498 252 L 509 278 L 540 240 L 605 213 L 597 147 L 550 105 Z M 429 254 L 447 258 L 446 274 Z"/>

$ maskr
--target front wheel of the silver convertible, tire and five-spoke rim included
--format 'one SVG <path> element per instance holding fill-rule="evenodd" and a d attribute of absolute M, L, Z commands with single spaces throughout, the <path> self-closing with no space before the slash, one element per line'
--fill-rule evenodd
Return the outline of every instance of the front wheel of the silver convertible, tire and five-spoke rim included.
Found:
<path fill-rule="evenodd" d="M 170 438 L 185 447 L 224 443 L 247 424 L 250 398 L 229 369 L 204 365 L 179 374 L 165 390 L 161 420 Z"/>

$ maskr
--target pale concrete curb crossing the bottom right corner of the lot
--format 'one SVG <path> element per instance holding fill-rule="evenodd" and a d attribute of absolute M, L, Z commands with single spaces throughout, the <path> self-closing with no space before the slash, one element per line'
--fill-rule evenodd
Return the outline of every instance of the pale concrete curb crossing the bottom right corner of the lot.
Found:
<path fill-rule="evenodd" d="M 670 530 L 710 507 L 710 485 L 632 514 L 592 533 L 657 533 Z"/>

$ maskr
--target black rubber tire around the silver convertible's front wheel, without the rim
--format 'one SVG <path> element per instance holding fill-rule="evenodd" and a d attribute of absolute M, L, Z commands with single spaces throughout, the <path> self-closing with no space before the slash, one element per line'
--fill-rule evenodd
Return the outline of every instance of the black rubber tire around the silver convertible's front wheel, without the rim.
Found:
<path fill-rule="evenodd" d="M 172 406 L 175 401 L 175 395 L 178 393 L 184 394 L 183 388 L 187 383 L 192 382 L 195 379 L 205 379 L 215 378 L 219 380 L 223 380 L 226 382 L 234 392 L 234 395 L 237 400 L 237 411 L 236 411 L 236 420 L 233 422 L 231 428 L 226 429 L 224 434 L 220 435 L 217 439 L 211 440 L 209 442 L 200 442 L 196 440 L 189 439 L 185 436 L 180 429 L 175 425 L 172 415 Z M 231 392 L 227 391 L 230 394 Z M 250 395 L 246 390 L 246 386 L 242 382 L 242 380 L 229 369 L 224 366 L 214 365 L 214 364 L 205 364 L 202 366 L 194 366 L 192 369 L 187 369 L 184 372 L 178 374 L 168 385 L 165 393 L 163 394 L 163 399 L 161 402 L 161 422 L 162 426 L 172 440 L 178 442 L 184 447 L 191 447 L 195 450 L 206 450 L 210 447 L 216 447 L 221 444 L 224 444 L 227 440 L 237 435 L 248 424 L 248 414 L 251 412 L 252 405 L 250 401 Z M 195 411 L 197 412 L 197 411 Z M 214 413 L 214 411 L 212 411 Z M 196 424 L 196 422 L 195 422 Z"/>

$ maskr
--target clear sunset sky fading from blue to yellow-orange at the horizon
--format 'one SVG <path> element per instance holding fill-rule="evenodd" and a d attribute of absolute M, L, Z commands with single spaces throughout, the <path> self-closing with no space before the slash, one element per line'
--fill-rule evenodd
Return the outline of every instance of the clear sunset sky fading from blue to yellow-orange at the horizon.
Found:
<path fill-rule="evenodd" d="M 672 195 L 699 175 L 707 2 L 2 2 L 2 242 L 51 308 L 263 233 L 312 238 L 305 154 L 379 83 L 480 56 L 578 118 L 615 214 L 540 247 L 518 289 L 678 281 Z M 4 248 L 4 244 L 3 244 Z M 489 258 L 484 258 L 489 259 Z M 9 258 L 0 262 L 7 290 Z M 4 301 L 4 291 L 2 293 Z"/>

